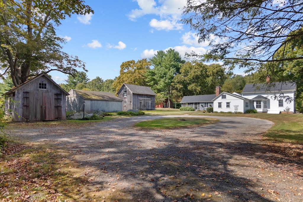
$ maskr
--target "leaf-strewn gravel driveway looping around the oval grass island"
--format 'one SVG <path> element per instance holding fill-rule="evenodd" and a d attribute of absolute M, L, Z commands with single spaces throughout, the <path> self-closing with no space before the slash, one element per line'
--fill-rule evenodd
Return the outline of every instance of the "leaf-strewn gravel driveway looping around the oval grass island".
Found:
<path fill-rule="evenodd" d="M 132 127 L 168 117 L 201 116 L 139 116 L 7 133 L 64 148 L 87 169 L 89 184 L 104 190 L 100 201 L 303 201 L 301 165 L 262 144 L 272 122 L 203 116 L 220 121 L 177 130 Z"/>

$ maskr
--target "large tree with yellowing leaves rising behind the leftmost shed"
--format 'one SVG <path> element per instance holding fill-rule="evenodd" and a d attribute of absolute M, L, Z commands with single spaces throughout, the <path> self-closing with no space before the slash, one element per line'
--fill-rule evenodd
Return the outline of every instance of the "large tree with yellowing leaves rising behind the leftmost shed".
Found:
<path fill-rule="evenodd" d="M 65 39 L 56 35 L 55 26 L 72 14 L 93 10 L 81 1 L 2 0 L 0 2 L 0 64 L 15 86 L 42 72 L 61 71 L 74 75 L 85 70 L 77 56 L 61 51 Z"/>

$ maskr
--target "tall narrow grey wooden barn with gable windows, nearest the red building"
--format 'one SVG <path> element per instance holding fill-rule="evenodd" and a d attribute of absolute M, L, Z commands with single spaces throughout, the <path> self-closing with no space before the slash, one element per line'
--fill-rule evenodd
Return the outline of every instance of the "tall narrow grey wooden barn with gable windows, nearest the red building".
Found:
<path fill-rule="evenodd" d="M 122 110 L 155 110 L 155 92 L 146 86 L 123 84 L 118 91 L 123 100 Z"/>

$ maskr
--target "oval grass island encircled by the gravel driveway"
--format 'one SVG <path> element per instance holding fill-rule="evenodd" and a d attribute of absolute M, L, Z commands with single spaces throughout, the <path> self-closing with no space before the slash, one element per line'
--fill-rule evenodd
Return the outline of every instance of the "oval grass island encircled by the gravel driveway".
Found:
<path fill-rule="evenodd" d="M 181 120 L 183 119 L 183 120 Z M 185 121 L 184 121 L 185 120 Z M 171 129 L 205 124 L 214 124 L 218 120 L 210 118 L 161 118 L 136 123 L 135 127 L 145 129 Z"/>

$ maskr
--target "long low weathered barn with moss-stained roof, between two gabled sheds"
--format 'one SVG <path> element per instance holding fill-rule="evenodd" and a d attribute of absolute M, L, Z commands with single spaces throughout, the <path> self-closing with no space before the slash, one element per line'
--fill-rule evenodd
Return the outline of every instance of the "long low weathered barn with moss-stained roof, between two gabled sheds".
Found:
<path fill-rule="evenodd" d="M 110 92 L 85 91 L 72 89 L 66 96 L 66 111 L 80 112 L 84 111 L 104 111 L 117 112 L 122 111 L 122 99 Z"/>

